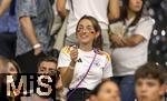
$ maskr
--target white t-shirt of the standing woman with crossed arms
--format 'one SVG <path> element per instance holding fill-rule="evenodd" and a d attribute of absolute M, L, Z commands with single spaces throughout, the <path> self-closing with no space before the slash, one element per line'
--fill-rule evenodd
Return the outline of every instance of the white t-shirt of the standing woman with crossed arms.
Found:
<path fill-rule="evenodd" d="M 116 48 L 112 49 L 112 67 L 114 75 L 134 74 L 135 71 L 147 62 L 148 58 L 148 43 L 154 27 L 155 20 L 150 17 L 143 17 L 137 26 L 130 27 L 128 32 L 124 34 L 126 38 L 132 34 L 140 34 L 145 38 L 144 42 L 135 47 Z M 110 29 L 121 28 L 121 21 L 110 24 Z M 115 29 L 112 32 L 116 32 Z"/>

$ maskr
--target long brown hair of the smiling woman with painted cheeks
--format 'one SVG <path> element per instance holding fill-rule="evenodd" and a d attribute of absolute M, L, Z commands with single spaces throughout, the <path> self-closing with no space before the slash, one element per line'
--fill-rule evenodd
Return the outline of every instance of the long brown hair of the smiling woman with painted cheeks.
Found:
<path fill-rule="evenodd" d="M 95 31 L 96 31 L 96 32 L 99 32 L 98 38 L 96 38 L 96 39 L 94 40 L 94 42 L 92 42 L 92 48 L 102 50 L 101 28 L 100 28 L 100 26 L 99 26 L 99 23 L 98 23 L 98 21 L 97 21 L 96 18 L 90 17 L 90 16 L 84 16 L 84 17 L 78 21 L 76 31 L 77 31 L 77 29 L 78 29 L 78 26 L 79 26 L 80 21 L 84 20 L 84 19 L 88 19 L 88 20 L 91 22 L 91 24 L 92 24 Z"/>

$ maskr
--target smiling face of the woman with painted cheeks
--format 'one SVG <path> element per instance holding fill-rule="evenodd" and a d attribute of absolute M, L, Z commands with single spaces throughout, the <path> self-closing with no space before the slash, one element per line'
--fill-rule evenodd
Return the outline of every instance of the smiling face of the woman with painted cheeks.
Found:
<path fill-rule="evenodd" d="M 92 44 L 97 32 L 90 20 L 82 19 L 77 27 L 77 39 L 80 44 Z"/>

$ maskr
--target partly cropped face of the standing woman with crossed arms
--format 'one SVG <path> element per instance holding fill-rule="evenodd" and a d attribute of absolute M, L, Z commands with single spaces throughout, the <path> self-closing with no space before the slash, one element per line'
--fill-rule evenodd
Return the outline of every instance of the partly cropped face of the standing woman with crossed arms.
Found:
<path fill-rule="evenodd" d="M 139 12 L 143 8 L 143 0 L 129 0 L 129 10 Z"/>

